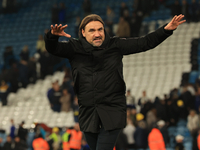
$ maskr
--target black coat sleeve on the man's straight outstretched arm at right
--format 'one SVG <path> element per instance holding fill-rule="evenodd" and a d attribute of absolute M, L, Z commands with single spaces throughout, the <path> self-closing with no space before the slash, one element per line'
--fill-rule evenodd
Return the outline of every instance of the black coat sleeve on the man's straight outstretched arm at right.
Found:
<path fill-rule="evenodd" d="M 173 31 L 165 30 L 164 27 L 139 38 L 119 38 L 116 42 L 117 47 L 122 55 L 145 52 L 155 48 L 173 33 Z"/>

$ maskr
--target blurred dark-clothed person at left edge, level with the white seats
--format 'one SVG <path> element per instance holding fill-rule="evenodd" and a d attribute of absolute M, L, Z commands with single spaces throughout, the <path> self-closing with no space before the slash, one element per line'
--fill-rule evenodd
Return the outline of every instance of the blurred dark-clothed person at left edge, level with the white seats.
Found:
<path fill-rule="evenodd" d="M 7 97 L 9 93 L 9 85 L 2 80 L 0 85 L 0 99 L 2 101 L 2 106 L 7 105 Z"/>

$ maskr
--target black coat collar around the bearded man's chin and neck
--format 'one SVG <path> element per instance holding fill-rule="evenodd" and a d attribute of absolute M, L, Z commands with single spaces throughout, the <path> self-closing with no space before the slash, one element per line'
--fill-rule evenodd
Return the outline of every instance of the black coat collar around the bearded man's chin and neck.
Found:
<path fill-rule="evenodd" d="M 108 35 L 108 33 L 104 30 L 104 33 L 105 33 L 105 40 L 103 41 L 102 45 L 100 47 L 95 47 L 93 45 L 91 45 L 84 37 L 81 37 L 79 38 L 82 46 L 83 46 L 83 49 L 86 51 L 86 52 L 91 52 L 95 49 L 104 49 L 108 46 L 108 43 L 110 41 L 110 36 Z"/>

